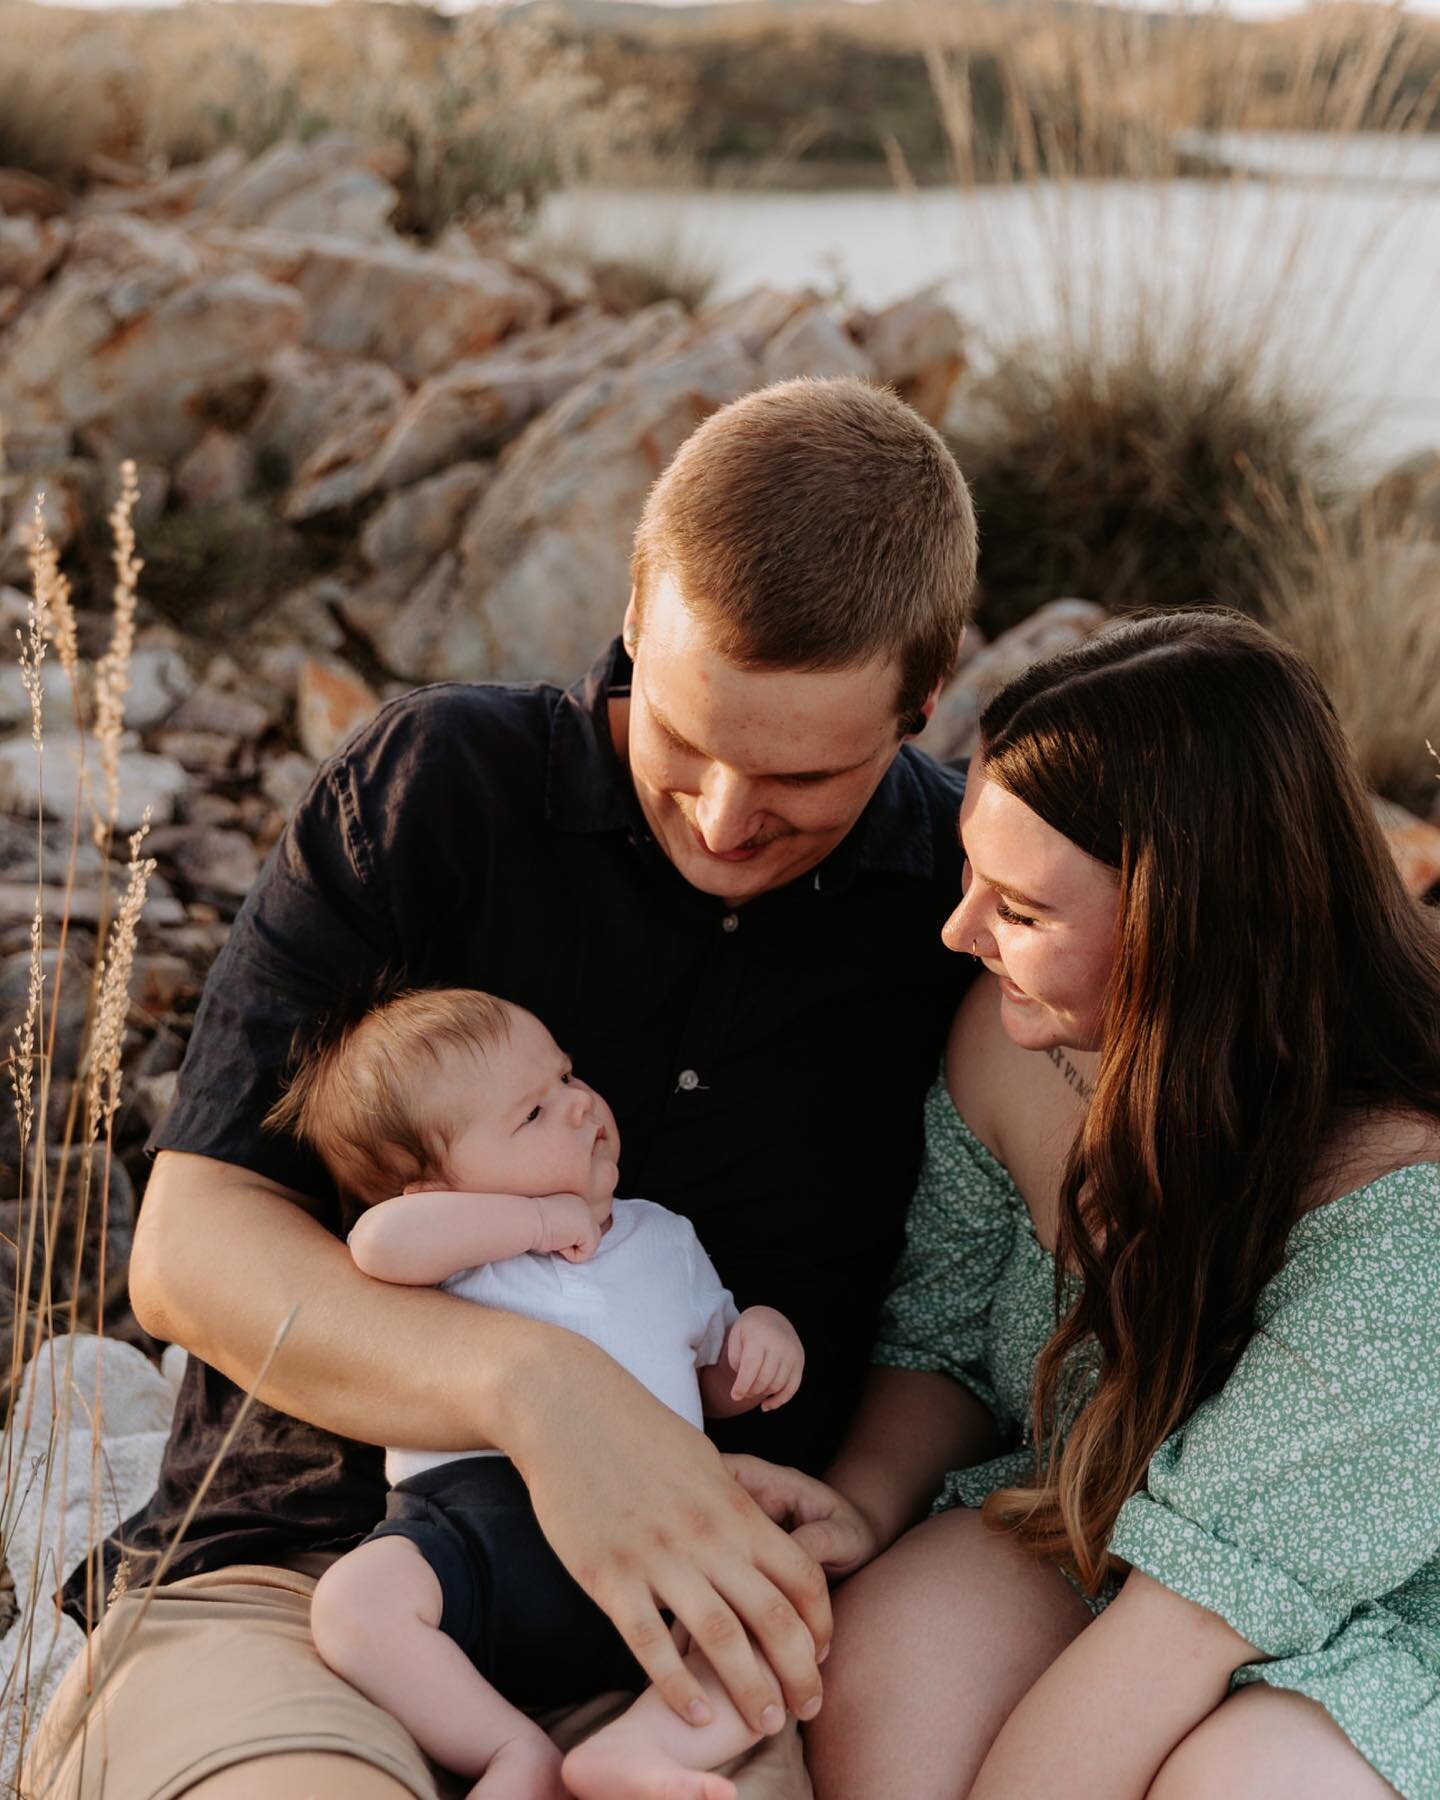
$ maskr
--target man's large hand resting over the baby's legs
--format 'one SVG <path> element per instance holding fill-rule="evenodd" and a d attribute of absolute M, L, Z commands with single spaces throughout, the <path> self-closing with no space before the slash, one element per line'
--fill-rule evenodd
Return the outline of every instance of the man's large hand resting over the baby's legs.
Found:
<path fill-rule="evenodd" d="M 664 1609 L 752 1730 L 778 1732 L 787 1706 L 814 1717 L 832 1629 L 824 1573 L 709 1440 L 578 1341 L 574 1357 L 527 1359 L 509 1386 L 497 1438 L 529 1485 L 540 1528 L 662 1699 L 693 1724 L 709 1715 Z"/>

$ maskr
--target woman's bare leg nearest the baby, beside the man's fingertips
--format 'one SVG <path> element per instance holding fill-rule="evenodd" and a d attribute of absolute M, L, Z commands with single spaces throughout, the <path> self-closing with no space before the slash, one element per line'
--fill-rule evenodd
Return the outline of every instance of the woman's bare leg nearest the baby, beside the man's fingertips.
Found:
<path fill-rule="evenodd" d="M 1010 1712 L 1091 1611 L 1064 1577 L 941 1512 L 835 1593 L 824 1708 L 806 1726 L 817 1800 L 956 1800 Z"/>

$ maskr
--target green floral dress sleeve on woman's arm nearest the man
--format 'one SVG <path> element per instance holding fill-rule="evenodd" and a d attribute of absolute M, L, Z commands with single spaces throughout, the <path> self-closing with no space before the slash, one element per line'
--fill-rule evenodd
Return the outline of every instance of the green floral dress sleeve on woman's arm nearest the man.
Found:
<path fill-rule="evenodd" d="M 1001 1417 L 986 1355 L 988 1314 L 1022 1204 L 956 1112 L 941 1075 L 925 1098 L 925 1156 L 873 1363 L 950 1375 Z"/>

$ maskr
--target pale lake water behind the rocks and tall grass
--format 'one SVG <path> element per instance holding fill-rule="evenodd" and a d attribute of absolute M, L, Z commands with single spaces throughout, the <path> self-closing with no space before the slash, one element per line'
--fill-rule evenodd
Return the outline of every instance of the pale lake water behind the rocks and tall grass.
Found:
<path fill-rule="evenodd" d="M 551 196 L 540 230 L 884 306 L 936 286 L 976 342 L 1121 349 L 1143 322 L 1318 396 L 1357 473 L 1440 446 L 1440 140 L 1229 137 L 1217 180 Z"/>

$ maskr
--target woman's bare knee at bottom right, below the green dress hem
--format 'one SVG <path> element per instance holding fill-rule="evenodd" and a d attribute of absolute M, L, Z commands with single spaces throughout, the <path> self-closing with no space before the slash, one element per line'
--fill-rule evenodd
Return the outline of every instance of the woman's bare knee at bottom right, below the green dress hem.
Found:
<path fill-rule="evenodd" d="M 1147 1800 L 1395 1800 L 1316 1701 L 1238 1688 L 1181 1739 Z"/>

